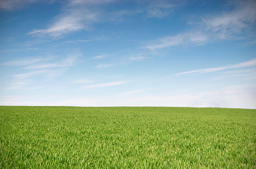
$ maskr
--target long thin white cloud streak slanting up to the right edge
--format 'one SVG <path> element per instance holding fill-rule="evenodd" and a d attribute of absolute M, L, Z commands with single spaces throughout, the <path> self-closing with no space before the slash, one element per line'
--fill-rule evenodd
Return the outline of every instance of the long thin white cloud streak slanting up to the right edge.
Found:
<path fill-rule="evenodd" d="M 225 65 L 221 67 L 213 67 L 213 68 L 205 68 L 205 69 L 199 69 L 199 70 L 192 70 L 192 71 L 185 71 L 185 72 L 180 72 L 175 75 L 183 75 L 183 74 L 191 74 L 191 73 L 207 73 L 207 72 L 215 72 L 215 71 L 220 71 L 224 69 L 229 69 L 229 68 L 240 68 L 240 67 L 248 67 L 248 66 L 253 66 L 256 65 L 256 58 L 251 59 L 249 61 L 241 62 L 238 64 L 233 64 L 233 65 Z"/>

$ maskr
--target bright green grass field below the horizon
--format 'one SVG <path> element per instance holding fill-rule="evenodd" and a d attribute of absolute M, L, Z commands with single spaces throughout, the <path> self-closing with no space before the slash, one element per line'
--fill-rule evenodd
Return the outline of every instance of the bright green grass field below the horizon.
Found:
<path fill-rule="evenodd" d="M 256 109 L 0 106 L 1 168 L 256 168 Z"/>

